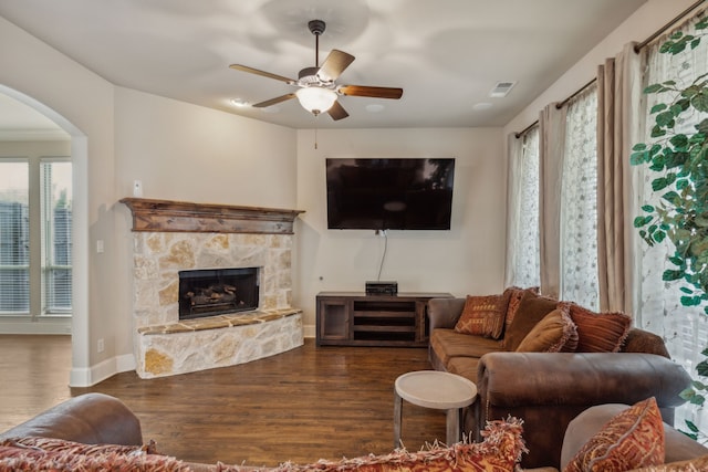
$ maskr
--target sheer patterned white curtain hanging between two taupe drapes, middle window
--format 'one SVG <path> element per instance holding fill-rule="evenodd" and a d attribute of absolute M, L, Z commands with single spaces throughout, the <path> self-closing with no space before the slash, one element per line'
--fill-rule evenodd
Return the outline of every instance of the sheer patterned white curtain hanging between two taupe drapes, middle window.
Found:
<path fill-rule="evenodd" d="M 596 85 L 568 105 L 563 155 L 560 297 L 597 310 Z"/>

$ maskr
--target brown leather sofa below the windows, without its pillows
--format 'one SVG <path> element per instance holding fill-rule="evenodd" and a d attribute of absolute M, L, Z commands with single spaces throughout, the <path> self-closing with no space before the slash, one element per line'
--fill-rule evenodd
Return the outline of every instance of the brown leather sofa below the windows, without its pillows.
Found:
<path fill-rule="evenodd" d="M 632 328 L 620 353 L 504 352 L 501 340 L 455 332 L 464 306 L 465 298 L 429 301 L 430 364 L 476 382 L 466 431 L 477 434 L 487 421 L 508 416 L 523 419 L 524 468 L 558 468 L 568 424 L 590 407 L 656 397 L 673 424 L 674 408 L 684 403 L 679 392 L 690 377 L 652 333 Z"/>

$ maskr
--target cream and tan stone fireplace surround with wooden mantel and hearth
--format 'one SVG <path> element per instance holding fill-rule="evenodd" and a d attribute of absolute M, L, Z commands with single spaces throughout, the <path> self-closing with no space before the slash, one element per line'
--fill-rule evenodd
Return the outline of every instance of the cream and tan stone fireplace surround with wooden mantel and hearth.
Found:
<path fill-rule="evenodd" d="M 293 222 L 301 211 L 125 198 L 133 213 L 136 371 L 164 377 L 302 346 L 291 306 Z M 180 270 L 259 268 L 254 312 L 179 321 Z"/>

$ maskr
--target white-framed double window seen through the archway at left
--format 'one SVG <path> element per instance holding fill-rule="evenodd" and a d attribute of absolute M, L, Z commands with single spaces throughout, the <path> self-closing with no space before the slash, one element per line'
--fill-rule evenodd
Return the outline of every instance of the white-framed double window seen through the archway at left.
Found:
<path fill-rule="evenodd" d="M 71 314 L 71 179 L 69 158 L 0 158 L 0 315 Z"/>

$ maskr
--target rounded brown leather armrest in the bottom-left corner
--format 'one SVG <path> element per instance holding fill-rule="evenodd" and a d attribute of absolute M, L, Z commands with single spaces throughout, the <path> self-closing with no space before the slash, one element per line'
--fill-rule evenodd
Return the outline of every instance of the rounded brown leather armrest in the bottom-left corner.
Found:
<path fill-rule="evenodd" d="M 0 439 L 21 437 L 84 444 L 143 444 L 140 422 L 128 407 L 117 398 L 95 392 L 71 398 L 0 433 Z"/>

